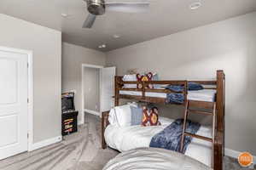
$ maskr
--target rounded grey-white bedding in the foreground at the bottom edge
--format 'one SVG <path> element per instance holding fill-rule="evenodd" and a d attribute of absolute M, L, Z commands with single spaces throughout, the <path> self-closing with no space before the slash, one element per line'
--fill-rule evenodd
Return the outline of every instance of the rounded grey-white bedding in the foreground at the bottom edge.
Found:
<path fill-rule="evenodd" d="M 157 148 L 141 148 L 119 154 L 103 170 L 212 170 L 183 154 Z"/>

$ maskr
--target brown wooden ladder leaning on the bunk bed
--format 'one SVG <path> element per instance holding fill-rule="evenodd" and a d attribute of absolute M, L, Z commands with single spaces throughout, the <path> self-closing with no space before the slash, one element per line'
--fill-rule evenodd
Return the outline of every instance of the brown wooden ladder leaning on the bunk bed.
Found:
<path fill-rule="evenodd" d="M 210 110 L 210 111 L 190 109 L 191 107 L 201 108 L 201 109 Z M 212 116 L 212 138 L 186 132 L 187 119 L 190 113 Z M 202 140 L 211 142 L 212 143 L 212 166 L 213 166 L 215 125 L 216 125 L 216 103 L 215 102 L 204 102 L 204 101 L 201 102 L 201 101 L 187 100 L 186 106 L 185 106 L 185 113 L 184 113 L 183 133 L 182 133 L 182 139 L 181 139 L 180 152 L 183 152 L 183 142 L 184 142 L 185 136 L 190 136 L 192 138 L 202 139 Z"/>

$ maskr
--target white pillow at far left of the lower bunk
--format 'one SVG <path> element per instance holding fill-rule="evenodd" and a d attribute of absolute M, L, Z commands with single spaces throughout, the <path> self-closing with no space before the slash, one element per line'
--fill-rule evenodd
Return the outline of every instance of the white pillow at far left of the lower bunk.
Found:
<path fill-rule="evenodd" d="M 108 122 L 118 127 L 131 126 L 131 106 L 121 105 L 114 107 L 109 113 Z"/>

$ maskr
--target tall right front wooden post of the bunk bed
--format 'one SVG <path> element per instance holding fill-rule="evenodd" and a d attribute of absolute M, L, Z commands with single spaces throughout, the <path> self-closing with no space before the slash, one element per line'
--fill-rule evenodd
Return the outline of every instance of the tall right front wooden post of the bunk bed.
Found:
<path fill-rule="evenodd" d="M 224 156 L 224 103 L 225 103 L 224 71 L 217 71 L 217 126 L 214 141 L 214 170 L 223 169 Z"/>

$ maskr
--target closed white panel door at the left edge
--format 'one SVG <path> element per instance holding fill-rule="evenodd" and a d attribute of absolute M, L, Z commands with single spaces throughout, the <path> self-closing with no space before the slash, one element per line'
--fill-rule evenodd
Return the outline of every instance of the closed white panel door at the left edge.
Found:
<path fill-rule="evenodd" d="M 27 150 L 27 55 L 0 48 L 0 160 Z"/>

